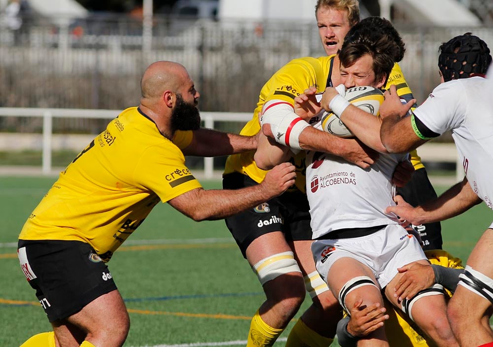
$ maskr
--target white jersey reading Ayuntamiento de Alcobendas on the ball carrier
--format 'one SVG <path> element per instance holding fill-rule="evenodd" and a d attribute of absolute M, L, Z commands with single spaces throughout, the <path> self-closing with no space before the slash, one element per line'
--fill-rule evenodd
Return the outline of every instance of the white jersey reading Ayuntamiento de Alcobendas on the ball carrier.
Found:
<path fill-rule="evenodd" d="M 320 123 L 316 125 L 320 128 Z M 307 196 L 313 239 L 331 231 L 397 223 L 385 209 L 395 205 L 391 180 L 407 154 L 380 155 L 369 169 L 321 152 L 307 154 Z"/>

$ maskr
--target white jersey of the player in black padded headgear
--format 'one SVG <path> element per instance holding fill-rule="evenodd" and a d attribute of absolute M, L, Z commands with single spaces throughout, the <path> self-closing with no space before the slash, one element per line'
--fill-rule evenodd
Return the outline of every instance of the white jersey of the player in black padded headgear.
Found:
<path fill-rule="evenodd" d="M 469 77 L 440 84 L 415 111 L 431 131 L 452 137 L 467 180 L 493 209 L 493 108 L 491 81 Z"/>

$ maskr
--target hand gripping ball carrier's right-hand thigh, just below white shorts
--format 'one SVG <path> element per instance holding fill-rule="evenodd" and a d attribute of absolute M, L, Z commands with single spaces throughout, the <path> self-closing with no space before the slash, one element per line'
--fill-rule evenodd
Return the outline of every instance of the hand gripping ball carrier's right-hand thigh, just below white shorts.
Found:
<path fill-rule="evenodd" d="M 402 274 L 394 287 L 394 298 L 399 298 L 399 301 L 404 298 L 410 300 L 419 291 L 435 284 L 435 273 L 431 265 L 412 262 L 397 268 L 397 271 Z"/>

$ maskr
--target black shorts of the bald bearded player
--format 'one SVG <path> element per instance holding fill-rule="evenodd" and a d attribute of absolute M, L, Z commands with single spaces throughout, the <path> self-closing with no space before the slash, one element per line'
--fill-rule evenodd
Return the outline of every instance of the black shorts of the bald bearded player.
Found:
<path fill-rule="evenodd" d="M 50 322 L 116 289 L 106 264 L 80 241 L 19 240 L 19 260 Z"/>

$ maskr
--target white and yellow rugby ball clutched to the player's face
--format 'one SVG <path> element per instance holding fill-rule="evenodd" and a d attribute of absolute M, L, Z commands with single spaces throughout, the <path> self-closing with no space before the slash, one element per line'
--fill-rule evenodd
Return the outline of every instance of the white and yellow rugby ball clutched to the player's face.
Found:
<path fill-rule="evenodd" d="M 380 89 L 369 86 L 353 87 L 346 91 L 344 98 L 363 111 L 379 116 L 380 105 L 384 102 L 384 93 Z M 332 135 L 344 138 L 354 136 L 332 112 L 325 111 L 321 122 L 323 131 Z"/>

